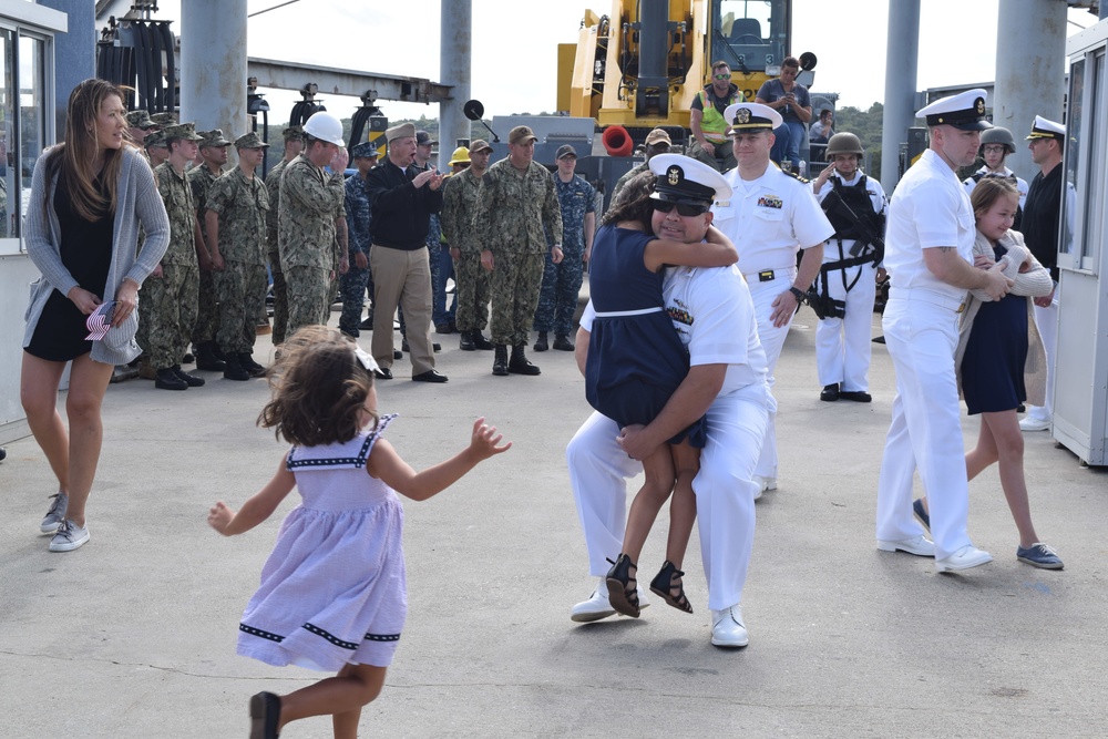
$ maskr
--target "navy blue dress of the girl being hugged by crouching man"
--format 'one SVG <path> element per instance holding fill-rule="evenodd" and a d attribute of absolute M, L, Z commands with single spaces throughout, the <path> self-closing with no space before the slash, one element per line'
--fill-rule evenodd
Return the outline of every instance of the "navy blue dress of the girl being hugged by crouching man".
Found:
<path fill-rule="evenodd" d="M 620 427 L 653 421 L 685 380 L 689 353 L 665 309 L 663 273 L 643 263 L 654 235 L 613 225 L 593 239 L 588 291 L 597 312 L 585 362 L 585 398 Z M 648 311 L 634 316 L 606 312 Z M 702 449 L 704 418 L 670 439 Z"/>

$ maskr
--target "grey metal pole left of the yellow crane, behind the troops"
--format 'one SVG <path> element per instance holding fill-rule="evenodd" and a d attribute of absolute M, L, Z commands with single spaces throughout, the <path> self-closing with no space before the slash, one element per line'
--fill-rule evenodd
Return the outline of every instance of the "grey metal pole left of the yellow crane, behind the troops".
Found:
<path fill-rule="evenodd" d="M 470 65 L 473 48 L 471 0 L 441 1 L 442 39 L 439 44 L 439 79 L 452 88 L 450 100 L 439 103 L 439 170 L 445 168 L 459 140 L 470 140 L 470 121 L 462 105 L 470 99 Z"/>

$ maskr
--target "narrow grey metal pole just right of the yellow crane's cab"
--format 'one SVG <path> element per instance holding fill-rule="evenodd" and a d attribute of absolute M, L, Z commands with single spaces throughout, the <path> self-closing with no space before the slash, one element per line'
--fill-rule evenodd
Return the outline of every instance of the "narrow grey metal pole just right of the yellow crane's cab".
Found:
<path fill-rule="evenodd" d="M 892 193 L 900 179 L 897 153 L 915 121 L 920 64 L 920 0 L 889 0 L 885 47 L 885 107 L 881 125 L 881 184 Z"/>

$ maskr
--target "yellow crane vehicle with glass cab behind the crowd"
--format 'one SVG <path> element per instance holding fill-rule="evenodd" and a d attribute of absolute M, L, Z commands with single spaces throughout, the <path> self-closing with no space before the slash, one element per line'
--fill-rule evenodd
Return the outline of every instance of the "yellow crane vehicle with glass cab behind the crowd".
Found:
<path fill-rule="evenodd" d="M 731 81 L 753 100 L 780 74 L 791 41 L 792 0 L 613 0 L 606 16 L 585 11 L 577 43 L 560 44 L 557 107 L 620 126 L 616 136 L 605 132 L 605 145 L 629 153 L 655 126 L 671 136 L 688 129 L 712 62 L 727 62 Z M 814 65 L 813 54 L 802 55 L 803 71 Z M 810 85 L 808 78 L 800 81 Z M 632 141 L 613 151 L 609 138 L 622 137 Z"/>

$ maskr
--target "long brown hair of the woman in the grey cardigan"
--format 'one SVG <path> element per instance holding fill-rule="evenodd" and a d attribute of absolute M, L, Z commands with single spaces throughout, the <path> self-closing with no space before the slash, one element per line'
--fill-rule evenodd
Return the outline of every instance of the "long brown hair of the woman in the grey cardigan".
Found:
<path fill-rule="evenodd" d="M 50 152 L 47 160 L 48 182 L 64 173 L 65 193 L 73 209 L 84 220 L 96 223 L 115 213 L 116 187 L 123 168 L 123 150 L 104 151 L 101 175 L 107 189 L 106 197 L 96 188 L 94 164 L 100 152 L 96 124 L 104 101 L 115 95 L 126 100 L 126 93 L 105 80 L 85 80 L 70 93 L 65 114 L 65 141 Z M 45 194 L 47 206 L 50 192 Z"/>

